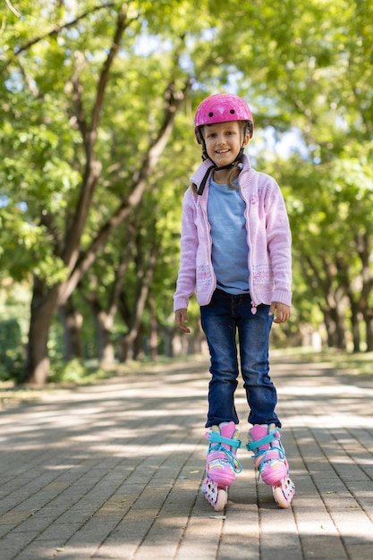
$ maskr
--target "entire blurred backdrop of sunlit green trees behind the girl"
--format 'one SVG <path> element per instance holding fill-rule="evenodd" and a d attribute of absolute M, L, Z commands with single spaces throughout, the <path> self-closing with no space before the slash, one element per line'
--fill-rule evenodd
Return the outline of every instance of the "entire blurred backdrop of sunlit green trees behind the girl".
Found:
<path fill-rule="evenodd" d="M 0 379 L 38 386 L 203 350 L 174 327 L 193 114 L 245 98 L 280 184 L 275 347 L 373 352 L 371 0 L 0 3 Z"/>

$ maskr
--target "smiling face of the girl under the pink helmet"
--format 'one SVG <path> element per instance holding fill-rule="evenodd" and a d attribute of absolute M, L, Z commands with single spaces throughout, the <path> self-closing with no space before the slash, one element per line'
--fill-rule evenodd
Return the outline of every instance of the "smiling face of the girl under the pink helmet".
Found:
<path fill-rule="evenodd" d="M 203 127 L 202 133 L 208 157 L 219 167 L 231 164 L 250 140 L 249 134 L 243 138 L 242 123 L 238 121 L 208 124 Z"/>

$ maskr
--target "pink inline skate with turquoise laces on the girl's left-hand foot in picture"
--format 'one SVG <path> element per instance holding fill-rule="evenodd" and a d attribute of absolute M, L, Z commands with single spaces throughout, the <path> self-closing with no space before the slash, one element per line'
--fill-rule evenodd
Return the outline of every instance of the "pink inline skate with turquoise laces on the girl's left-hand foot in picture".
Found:
<path fill-rule="evenodd" d="M 220 512 L 228 500 L 228 487 L 233 484 L 236 473 L 242 471 L 241 463 L 236 459 L 241 441 L 234 422 L 212 426 L 206 438 L 210 445 L 202 492 L 216 512 Z"/>

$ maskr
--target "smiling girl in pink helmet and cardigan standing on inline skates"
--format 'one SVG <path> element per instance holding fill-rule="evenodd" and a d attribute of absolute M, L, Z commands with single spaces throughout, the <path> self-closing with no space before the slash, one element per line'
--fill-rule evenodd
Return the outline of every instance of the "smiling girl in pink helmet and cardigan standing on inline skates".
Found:
<path fill-rule="evenodd" d="M 284 323 L 291 312 L 292 236 L 276 181 L 252 169 L 243 153 L 253 128 L 250 107 L 242 98 L 216 94 L 202 101 L 195 133 L 203 163 L 182 203 L 175 321 L 182 332 L 190 332 L 187 308 L 196 291 L 211 360 L 203 492 L 216 511 L 224 508 L 227 488 L 241 471 L 234 406 L 237 333 L 252 425 L 246 446 L 277 504 L 287 507 L 294 494 L 268 362 L 272 322 Z"/>

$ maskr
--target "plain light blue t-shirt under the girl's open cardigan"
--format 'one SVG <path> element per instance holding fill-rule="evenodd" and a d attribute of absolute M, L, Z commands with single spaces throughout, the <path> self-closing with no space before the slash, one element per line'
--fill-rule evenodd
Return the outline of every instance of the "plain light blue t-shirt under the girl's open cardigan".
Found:
<path fill-rule="evenodd" d="M 239 189 L 210 180 L 208 222 L 216 287 L 227 293 L 249 293 L 249 246 L 245 201 Z"/>

